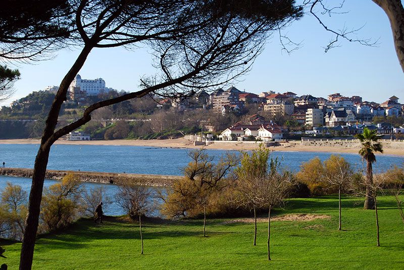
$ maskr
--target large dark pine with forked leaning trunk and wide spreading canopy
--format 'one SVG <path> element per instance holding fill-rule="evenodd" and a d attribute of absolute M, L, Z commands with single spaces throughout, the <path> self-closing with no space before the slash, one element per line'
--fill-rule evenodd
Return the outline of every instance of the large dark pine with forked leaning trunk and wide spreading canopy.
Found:
<path fill-rule="evenodd" d="M 91 113 L 147 94 L 190 95 L 195 89 L 231 82 L 249 70 L 265 39 L 301 16 L 293 0 L 122 1 L 70 0 L 74 14 L 66 44 L 81 52 L 63 78 L 47 115 L 35 158 L 29 209 L 21 247 L 20 269 L 32 265 L 43 180 L 51 146 L 91 120 Z M 148 46 L 160 73 L 143 78 L 140 90 L 96 102 L 83 116 L 56 130 L 69 85 L 94 48 Z"/>

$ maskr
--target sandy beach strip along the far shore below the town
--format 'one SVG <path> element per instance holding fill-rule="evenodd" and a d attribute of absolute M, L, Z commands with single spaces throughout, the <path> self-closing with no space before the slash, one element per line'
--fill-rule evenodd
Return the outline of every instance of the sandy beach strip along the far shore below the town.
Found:
<path fill-rule="evenodd" d="M 0 140 L 0 144 L 34 144 L 39 145 L 40 140 L 35 139 L 16 139 L 16 140 Z M 172 140 L 111 140 L 111 141 L 65 141 L 59 140 L 57 145 L 103 145 L 103 146 L 149 146 L 160 148 L 201 148 L 201 146 L 194 146 L 193 142 L 185 140 L 184 138 Z M 251 150 L 256 149 L 257 144 L 246 143 L 214 143 L 205 146 L 205 149 L 218 149 L 218 150 Z M 276 146 L 270 147 L 274 151 L 288 151 L 288 152 L 327 152 L 327 153 L 354 153 L 358 154 L 359 148 L 340 147 L 340 146 Z M 384 154 L 404 156 L 402 149 L 384 148 Z M 379 155 L 379 154 L 378 154 Z"/>

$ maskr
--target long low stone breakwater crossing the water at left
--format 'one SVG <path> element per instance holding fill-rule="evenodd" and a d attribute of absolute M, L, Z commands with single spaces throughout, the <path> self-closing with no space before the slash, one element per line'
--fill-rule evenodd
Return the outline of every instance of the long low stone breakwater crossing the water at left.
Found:
<path fill-rule="evenodd" d="M 174 180 L 181 179 L 177 175 L 134 174 L 134 173 L 110 173 L 110 172 L 82 172 L 46 170 L 45 178 L 61 180 L 66 174 L 77 175 L 82 182 L 116 183 L 120 179 L 129 179 L 139 185 L 171 186 Z M 33 169 L 0 168 L 0 175 L 32 178 Z"/>

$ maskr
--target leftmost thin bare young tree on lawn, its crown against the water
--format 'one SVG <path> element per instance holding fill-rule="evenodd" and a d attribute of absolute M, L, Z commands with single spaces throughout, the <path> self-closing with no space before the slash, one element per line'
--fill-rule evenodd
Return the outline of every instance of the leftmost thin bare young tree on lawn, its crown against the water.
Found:
<path fill-rule="evenodd" d="M 143 235 L 141 217 L 153 211 L 152 192 L 149 187 L 136 185 L 128 180 L 121 179 L 118 183 L 119 191 L 116 194 L 118 205 L 132 219 L 139 219 L 141 241 L 141 254 L 143 254 Z"/>

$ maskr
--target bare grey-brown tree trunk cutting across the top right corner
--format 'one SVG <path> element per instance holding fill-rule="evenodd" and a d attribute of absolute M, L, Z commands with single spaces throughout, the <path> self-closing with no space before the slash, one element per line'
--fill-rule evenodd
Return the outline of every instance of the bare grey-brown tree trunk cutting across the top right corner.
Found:
<path fill-rule="evenodd" d="M 404 8 L 401 0 L 373 0 L 386 13 L 393 33 L 395 52 L 404 72 Z"/>

